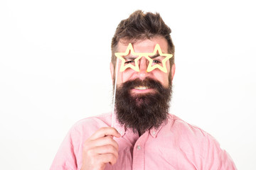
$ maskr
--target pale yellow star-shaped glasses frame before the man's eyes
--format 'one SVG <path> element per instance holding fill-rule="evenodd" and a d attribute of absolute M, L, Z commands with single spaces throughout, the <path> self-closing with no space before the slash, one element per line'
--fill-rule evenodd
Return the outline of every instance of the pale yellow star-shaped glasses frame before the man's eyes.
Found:
<path fill-rule="evenodd" d="M 129 55 L 129 52 L 131 52 L 131 54 L 133 56 L 138 56 L 135 60 L 134 60 L 134 63 L 135 65 L 133 64 L 125 64 L 125 59 L 122 57 L 122 56 L 127 56 Z M 162 60 L 162 64 L 163 66 L 159 65 L 159 64 L 153 64 L 153 61 L 149 56 L 154 56 L 156 55 L 158 52 L 159 56 L 163 56 L 165 57 L 164 60 Z M 146 53 L 146 52 L 134 52 L 134 48 L 132 47 L 132 44 L 129 43 L 128 47 L 127 47 L 127 50 L 125 52 L 115 52 L 114 55 L 116 57 L 118 57 L 122 63 L 121 63 L 121 68 L 120 68 L 120 72 L 124 72 L 125 69 L 127 68 L 131 68 L 131 69 L 134 69 L 136 72 L 139 72 L 139 64 L 138 64 L 138 61 L 142 58 L 142 57 L 146 57 L 147 60 L 149 60 L 149 65 L 146 69 L 146 72 L 151 72 L 152 70 L 158 68 L 160 69 L 162 72 L 165 72 L 167 73 L 167 68 L 166 68 L 166 61 L 169 60 L 171 57 L 173 57 L 173 55 L 171 54 L 163 54 L 161 52 L 161 47 L 159 44 L 156 44 L 155 48 L 154 48 L 154 52 L 151 52 L 151 53 Z"/>

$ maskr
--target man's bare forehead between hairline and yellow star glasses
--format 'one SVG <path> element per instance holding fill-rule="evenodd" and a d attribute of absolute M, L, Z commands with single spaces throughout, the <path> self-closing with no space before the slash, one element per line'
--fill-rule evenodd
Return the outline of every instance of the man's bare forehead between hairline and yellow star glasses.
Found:
<path fill-rule="evenodd" d="M 117 44 L 117 52 L 125 52 L 127 50 L 128 44 L 132 42 L 132 47 L 134 52 L 154 52 L 154 47 L 159 44 L 163 53 L 168 53 L 168 42 L 163 37 L 154 37 L 145 40 L 119 40 Z"/>

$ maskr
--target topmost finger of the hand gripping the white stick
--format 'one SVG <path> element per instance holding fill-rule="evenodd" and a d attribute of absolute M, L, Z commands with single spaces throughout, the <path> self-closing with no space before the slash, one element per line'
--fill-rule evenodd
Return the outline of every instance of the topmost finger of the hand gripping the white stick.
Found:
<path fill-rule="evenodd" d="M 115 128 L 112 127 L 104 127 L 100 128 L 100 130 L 97 130 L 91 137 L 90 140 L 95 140 L 99 137 L 105 137 L 107 135 L 112 135 L 114 137 L 120 137 L 121 135 Z"/>

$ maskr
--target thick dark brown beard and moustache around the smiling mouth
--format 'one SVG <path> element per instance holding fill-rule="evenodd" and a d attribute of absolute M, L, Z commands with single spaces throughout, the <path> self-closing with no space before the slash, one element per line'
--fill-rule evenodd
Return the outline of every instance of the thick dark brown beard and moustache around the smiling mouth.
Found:
<path fill-rule="evenodd" d="M 154 93 L 131 95 L 136 86 L 148 86 Z M 164 88 L 159 81 L 146 78 L 127 81 L 117 88 L 115 112 L 117 121 L 133 132 L 143 134 L 150 128 L 159 128 L 168 118 L 171 101 L 171 82 Z"/>

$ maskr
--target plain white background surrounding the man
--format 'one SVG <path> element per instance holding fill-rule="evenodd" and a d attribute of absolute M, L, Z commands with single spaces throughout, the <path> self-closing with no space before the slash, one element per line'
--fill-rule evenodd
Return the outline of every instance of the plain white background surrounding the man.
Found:
<path fill-rule="evenodd" d="M 256 169 L 253 1 L 0 2 L 0 169 L 49 169 L 70 127 L 111 111 L 110 42 L 137 9 L 176 45 L 171 113 Z"/>

